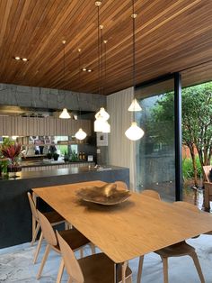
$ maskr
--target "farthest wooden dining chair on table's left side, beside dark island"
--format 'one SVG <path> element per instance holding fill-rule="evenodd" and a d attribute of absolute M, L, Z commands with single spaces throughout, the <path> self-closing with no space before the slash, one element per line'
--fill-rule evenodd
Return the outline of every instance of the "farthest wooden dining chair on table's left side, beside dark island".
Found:
<path fill-rule="evenodd" d="M 35 203 L 34 203 L 32 197 L 31 197 L 31 193 L 28 192 L 27 196 L 28 196 L 29 203 L 30 203 L 30 206 L 31 206 L 31 215 L 32 215 L 32 217 L 33 217 L 33 219 L 35 220 L 35 223 L 36 223 L 35 231 L 34 231 L 34 233 L 32 232 L 31 245 L 33 245 L 36 238 L 37 238 L 37 235 L 40 231 L 40 220 L 39 220 L 39 216 L 38 216 L 38 213 L 37 213 Z M 66 224 L 65 219 L 61 215 L 57 214 L 56 211 L 46 212 L 46 213 L 43 213 L 43 215 L 45 215 L 47 217 L 47 219 L 49 220 L 49 223 L 52 226 L 65 223 L 65 227 L 67 229 L 67 224 Z M 43 233 L 42 233 L 42 231 L 40 231 L 40 238 L 39 238 L 39 242 L 38 242 L 35 254 L 34 254 L 33 263 L 36 263 L 36 261 L 38 259 L 42 239 L 43 239 Z"/>

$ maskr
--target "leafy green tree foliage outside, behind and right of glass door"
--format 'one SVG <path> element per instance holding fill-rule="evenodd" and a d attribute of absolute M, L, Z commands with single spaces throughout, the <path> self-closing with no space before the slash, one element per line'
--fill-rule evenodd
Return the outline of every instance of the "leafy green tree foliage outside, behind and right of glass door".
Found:
<path fill-rule="evenodd" d="M 182 142 L 199 151 L 201 165 L 209 164 L 212 155 L 212 82 L 182 89 Z M 173 142 L 174 96 L 159 97 L 152 109 L 148 129 L 159 142 Z M 163 126 L 160 126 L 162 124 Z M 162 131 L 163 130 L 163 131 Z"/>

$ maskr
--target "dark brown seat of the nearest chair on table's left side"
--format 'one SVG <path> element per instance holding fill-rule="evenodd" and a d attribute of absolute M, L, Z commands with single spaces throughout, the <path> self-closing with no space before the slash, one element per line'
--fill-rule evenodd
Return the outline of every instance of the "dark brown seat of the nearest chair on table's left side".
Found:
<path fill-rule="evenodd" d="M 104 253 L 97 253 L 78 260 L 84 274 L 84 283 L 110 283 L 114 282 L 114 262 Z M 132 271 L 126 269 L 126 278 Z M 119 282 L 121 282 L 121 267 L 118 268 Z M 128 281 L 128 279 L 126 280 Z"/>

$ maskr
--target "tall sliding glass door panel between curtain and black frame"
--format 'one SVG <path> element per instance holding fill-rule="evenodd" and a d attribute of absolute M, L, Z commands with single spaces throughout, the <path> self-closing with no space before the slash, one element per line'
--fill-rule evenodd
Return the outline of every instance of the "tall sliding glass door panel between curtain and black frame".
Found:
<path fill-rule="evenodd" d="M 145 131 L 137 142 L 137 191 L 155 189 L 166 201 L 175 200 L 173 88 L 172 78 L 136 90 L 136 119 Z"/>

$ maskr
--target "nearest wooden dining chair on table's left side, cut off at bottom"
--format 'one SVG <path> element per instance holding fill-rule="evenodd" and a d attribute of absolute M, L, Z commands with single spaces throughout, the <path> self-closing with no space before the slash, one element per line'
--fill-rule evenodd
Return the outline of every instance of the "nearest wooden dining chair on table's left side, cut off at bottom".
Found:
<path fill-rule="evenodd" d="M 114 262 L 104 253 L 96 253 L 76 260 L 71 247 L 57 232 L 60 251 L 69 276 L 67 283 L 109 283 L 114 282 Z M 122 281 L 122 269 L 118 268 L 119 282 Z M 125 282 L 132 283 L 132 271 L 126 267 Z"/>

